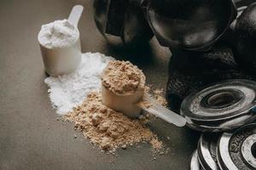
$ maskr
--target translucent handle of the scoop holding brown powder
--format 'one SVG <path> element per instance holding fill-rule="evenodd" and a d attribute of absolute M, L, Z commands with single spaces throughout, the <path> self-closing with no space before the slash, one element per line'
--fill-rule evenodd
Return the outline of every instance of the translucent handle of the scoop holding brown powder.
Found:
<path fill-rule="evenodd" d="M 157 101 L 155 101 L 155 99 L 150 97 L 148 94 L 145 94 L 143 99 L 152 105 L 149 107 L 139 105 L 144 111 L 148 111 L 148 113 L 158 116 L 166 122 L 176 125 L 177 127 L 183 127 L 186 125 L 186 119 L 183 116 L 177 115 L 177 113 L 168 110 L 165 106 L 158 104 Z"/>

